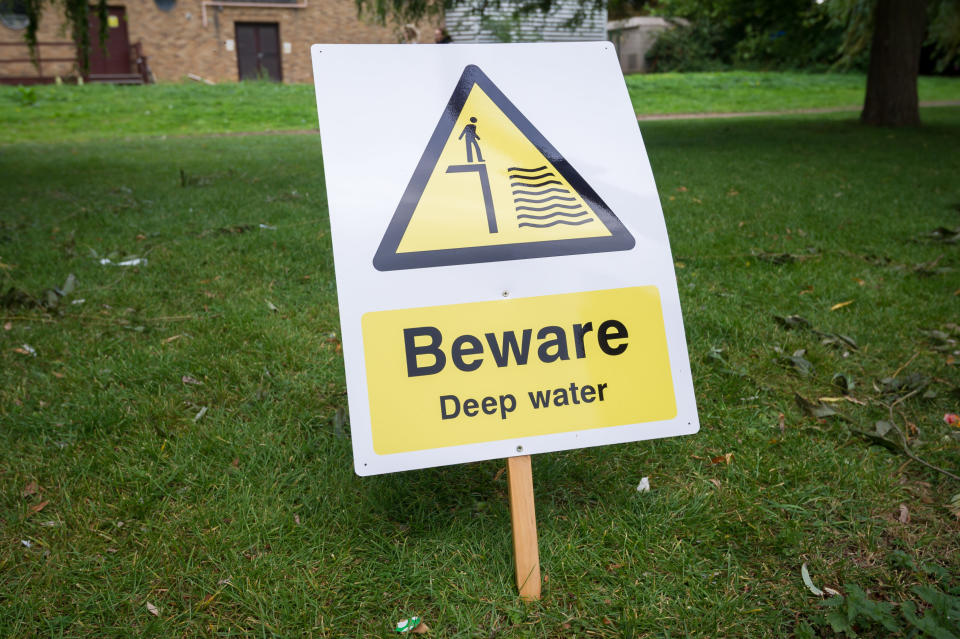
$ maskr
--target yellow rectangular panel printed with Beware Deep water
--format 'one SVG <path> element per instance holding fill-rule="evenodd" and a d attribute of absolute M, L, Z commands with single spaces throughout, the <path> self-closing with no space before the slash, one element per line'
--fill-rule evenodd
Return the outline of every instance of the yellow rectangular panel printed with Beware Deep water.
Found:
<path fill-rule="evenodd" d="M 672 419 L 655 286 L 366 313 L 379 455 Z"/>

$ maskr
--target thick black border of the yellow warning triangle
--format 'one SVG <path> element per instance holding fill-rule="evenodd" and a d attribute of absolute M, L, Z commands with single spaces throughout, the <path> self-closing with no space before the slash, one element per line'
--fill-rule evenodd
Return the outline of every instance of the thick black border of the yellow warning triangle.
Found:
<path fill-rule="evenodd" d="M 443 147 L 453 131 L 460 112 L 470 95 L 473 85 L 479 85 L 484 93 L 493 100 L 504 115 L 520 129 L 530 142 L 553 164 L 570 186 L 590 205 L 600 221 L 611 235 L 606 237 L 571 238 L 565 240 L 547 240 L 539 242 L 516 242 L 490 246 L 471 246 L 466 248 L 438 249 L 414 253 L 398 253 L 400 241 L 420 202 L 433 168 L 440 160 Z M 420 162 L 410 178 L 409 184 L 400 198 L 400 204 L 387 226 L 380 247 L 373 258 L 373 266 L 378 271 L 396 271 L 401 269 L 427 268 L 432 266 L 455 266 L 459 264 L 478 264 L 482 262 L 501 262 L 537 257 L 557 257 L 561 255 L 580 255 L 584 253 L 604 253 L 609 251 L 628 251 L 636 244 L 633 235 L 614 215 L 610 207 L 587 184 L 586 180 L 560 155 L 540 131 L 517 109 L 480 67 L 469 64 L 464 68 L 453 95 L 447 103 L 437 127 L 427 142 Z"/>

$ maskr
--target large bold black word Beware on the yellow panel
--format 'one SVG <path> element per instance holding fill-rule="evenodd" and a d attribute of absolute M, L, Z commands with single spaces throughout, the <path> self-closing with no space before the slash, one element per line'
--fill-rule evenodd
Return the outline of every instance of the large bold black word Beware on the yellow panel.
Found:
<path fill-rule="evenodd" d="M 589 333 L 594 333 L 593 322 L 574 324 L 571 331 L 575 356 L 583 359 L 587 356 L 584 342 Z M 504 331 L 499 336 L 496 333 L 484 333 L 484 337 L 493 362 L 500 368 L 510 365 L 511 355 L 517 366 L 525 365 L 530 358 L 532 328 L 523 329 L 519 341 L 516 332 L 512 330 Z M 618 320 L 608 319 L 601 323 L 594 337 L 597 346 L 606 355 L 620 355 L 627 350 L 627 327 Z M 418 338 L 421 338 L 419 345 Z M 428 341 L 423 343 L 422 338 L 427 338 Z M 536 356 L 544 364 L 570 359 L 567 332 L 560 326 L 544 326 L 537 331 L 537 340 L 540 343 Z M 447 353 L 441 348 L 443 334 L 435 326 L 403 329 L 403 345 L 406 350 L 407 377 L 435 375 L 447 365 Z M 453 365 L 467 373 L 477 370 L 485 361 L 483 342 L 474 335 L 458 336 L 453 340 L 449 352 Z"/>

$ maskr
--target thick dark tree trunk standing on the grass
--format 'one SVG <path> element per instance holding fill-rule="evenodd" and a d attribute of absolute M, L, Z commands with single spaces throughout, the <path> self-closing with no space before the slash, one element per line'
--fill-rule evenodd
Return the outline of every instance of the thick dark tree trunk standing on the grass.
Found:
<path fill-rule="evenodd" d="M 867 98 L 860 121 L 876 126 L 918 126 L 917 74 L 927 16 L 926 0 L 878 0 Z"/>

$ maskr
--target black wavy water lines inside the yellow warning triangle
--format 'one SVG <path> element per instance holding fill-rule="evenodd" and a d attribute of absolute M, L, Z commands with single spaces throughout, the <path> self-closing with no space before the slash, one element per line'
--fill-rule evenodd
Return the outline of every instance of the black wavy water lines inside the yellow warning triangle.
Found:
<path fill-rule="evenodd" d="M 556 179 L 557 174 L 550 167 L 511 166 L 507 169 L 507 177 L 521 228 L 542 229 L 558 224 L 580 226 L 593 222 L 590 212 L 562 181 Z"/>

